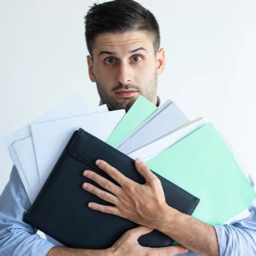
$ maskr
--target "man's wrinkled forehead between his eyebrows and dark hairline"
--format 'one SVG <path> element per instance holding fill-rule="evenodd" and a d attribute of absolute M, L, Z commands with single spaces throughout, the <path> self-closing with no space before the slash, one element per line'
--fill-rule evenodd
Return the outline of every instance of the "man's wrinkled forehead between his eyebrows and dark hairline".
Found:
<path fill-rule="evenodd" d="M 102 51 L 131 53 L 136 49 L 154 50 L 153 40 L 144 31 L 130 31 L 125 33 L 104 33 L 94 41 L 94 53 L 96 56 Z"/>

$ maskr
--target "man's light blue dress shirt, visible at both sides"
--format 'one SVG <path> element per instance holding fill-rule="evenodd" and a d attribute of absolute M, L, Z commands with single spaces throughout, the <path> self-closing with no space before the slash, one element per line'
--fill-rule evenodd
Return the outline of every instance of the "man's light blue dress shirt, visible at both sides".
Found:
<path fill-rule="evenodd" d="M 238 165 L 244 171 L 252 187 L 255 183 L 241 159 L 233 152 L 230 144 L 222 137 L 227 148 L 235 157 Z M 53 239 L 40 238 L 34 227 L 23 222 L 31 203 L 23 187 L 18 171 L 12 168 L 10 181 L 0 197 L 0 255 L 2 256 L 42 256 L 54 246 Z M 256 255 L 256 200 L 249 207 L 250 216 L 233 225 L 214 226 L 219 252 L 222 256 L 255 256 Z M 187 252 L 187 256 L 195 256 Z"/>

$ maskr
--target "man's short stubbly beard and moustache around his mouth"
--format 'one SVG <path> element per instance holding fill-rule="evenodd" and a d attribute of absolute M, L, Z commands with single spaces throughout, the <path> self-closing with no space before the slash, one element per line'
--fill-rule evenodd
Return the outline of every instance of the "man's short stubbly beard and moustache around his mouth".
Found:
<path fill-rule="evenodd" d="M 154 72 L 151 78 L 149 78 L 146 83 L 143 84 L 143 88 L 140 88 L 140 86 L 135 86 L 132 83 L 120 83 L 118 86 L 108 91 L 107 86 L 105 86 L 104 83 L 99 81 L 97 78 L 95 80 L 99 97 L 103 104 L 107 104 L 109 110 L 125 109 L 127 112 L 140 95 L 152 103 L 154 103 L 157 98 L 157 72 Z M 135 91 L 138 91 L 139 95 L 136 97 L 117 99 L 115 97 L 115 92 L 121 89 L 134 89 Z"/>

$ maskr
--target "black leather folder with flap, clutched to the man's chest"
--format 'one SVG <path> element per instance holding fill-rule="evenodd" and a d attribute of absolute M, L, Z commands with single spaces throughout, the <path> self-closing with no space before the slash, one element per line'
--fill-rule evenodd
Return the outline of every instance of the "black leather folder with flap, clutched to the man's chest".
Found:
<path fill-rule="evenodd" d="M 111 205 L 82 188 L 83 182 L 90 182 L 99 187 L 94 181 L 83 176 L 83 170 L 93 170 L 113 181 L 97 167 L 97 159 L 105 160 L 133 181 L 145 183 L 143 176 L 136 170 L 133 159 L 79 129 L 69 140 L 26 215 L 25 222 L 66 246 L 87 249 L 109 248 L 127 230 L 138 227 L 138 224 L 127 219 L 94 211 L 87 206 L 89 202 Z M 155 174 L 162 183 L 166 203 L 184 214 L 191 215 L 199 199 Z M 173 244 L 172 238 L 158 230 L 141 236 L 138 241 L 142 246 L 150 247 Z"/>

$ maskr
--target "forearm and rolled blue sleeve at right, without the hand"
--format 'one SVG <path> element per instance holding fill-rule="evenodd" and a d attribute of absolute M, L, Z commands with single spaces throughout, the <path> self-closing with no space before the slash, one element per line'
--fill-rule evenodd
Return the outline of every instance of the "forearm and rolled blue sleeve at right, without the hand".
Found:
<path fill-rule="evenodd" d="M 163 223 L 159 230 L 200 255 L 256 255 L 256 200 L 249 211 L 249 217 L 233 225 L 215 226 L 186 214 L 174 214 L 163 218 L 166 225 Z"/>

